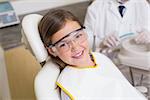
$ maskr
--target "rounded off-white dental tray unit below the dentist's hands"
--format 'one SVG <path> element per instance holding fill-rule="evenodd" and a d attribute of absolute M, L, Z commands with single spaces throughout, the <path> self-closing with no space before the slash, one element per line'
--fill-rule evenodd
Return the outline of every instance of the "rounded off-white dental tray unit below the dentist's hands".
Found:
<path fill-rule="evenodd" d="M 136 44 L 133 38 L 122 41 L 118 59 L 121 64 L 138 69 L 150 70 L 150 44 Z"/>

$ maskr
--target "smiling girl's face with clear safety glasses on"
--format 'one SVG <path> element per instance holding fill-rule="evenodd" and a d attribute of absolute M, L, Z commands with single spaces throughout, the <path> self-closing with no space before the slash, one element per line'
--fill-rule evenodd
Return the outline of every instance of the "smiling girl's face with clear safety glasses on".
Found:
<path fill-rule="evenodd" d="M 89 45 L 87 34 L 76 22 L 67 20 L 65 26 L 52 36 L 50 53 L 73 66 L 89 66 Z"/>

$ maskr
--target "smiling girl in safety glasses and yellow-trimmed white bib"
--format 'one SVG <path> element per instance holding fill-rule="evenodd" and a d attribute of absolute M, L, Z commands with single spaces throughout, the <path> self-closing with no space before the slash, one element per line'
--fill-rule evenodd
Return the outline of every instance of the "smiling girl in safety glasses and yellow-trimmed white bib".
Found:
<path fill-rule="evenodd" d="M 62 100 L 146 100 L 104 55 L 90 52 L 85 27 L 70 12 L 48 12 L 39 32 L 63 70 L 56 84 Z"/>

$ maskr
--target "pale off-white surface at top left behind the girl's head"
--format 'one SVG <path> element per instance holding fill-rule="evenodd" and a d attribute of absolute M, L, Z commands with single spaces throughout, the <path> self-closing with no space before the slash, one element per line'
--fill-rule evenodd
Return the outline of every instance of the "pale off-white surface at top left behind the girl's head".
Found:
<path fill-rule="evenodd" d="M 89 0 L 16 0 L 11 1 L 18 15 Z"/>

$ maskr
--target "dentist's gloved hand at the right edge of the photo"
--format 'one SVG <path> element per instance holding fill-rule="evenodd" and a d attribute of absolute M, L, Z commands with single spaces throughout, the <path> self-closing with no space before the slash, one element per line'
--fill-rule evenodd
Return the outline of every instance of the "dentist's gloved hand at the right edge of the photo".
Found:
<path fill-rule="evenodd" d="M 150 32 L 143 30 L 134 38 L 137 44 L 148 44 L 150 43 Z"/>

